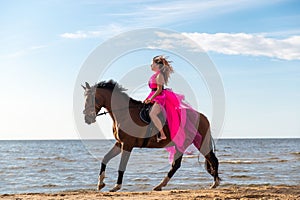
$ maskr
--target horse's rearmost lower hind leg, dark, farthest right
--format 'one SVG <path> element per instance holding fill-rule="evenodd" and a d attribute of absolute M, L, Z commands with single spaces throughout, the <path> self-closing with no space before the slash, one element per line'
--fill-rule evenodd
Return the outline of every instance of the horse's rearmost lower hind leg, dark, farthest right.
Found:
<path fill-rule="evenodd" d="M 216 188 L 220 185 L 221 181 L 218 173 L 219 161 L 213 151 L 210 151 L 205 156 L 205 159 L 206 170 L 210 175 L 214 177 L 214 183 L 212 184 L 211 188 Z"/>

